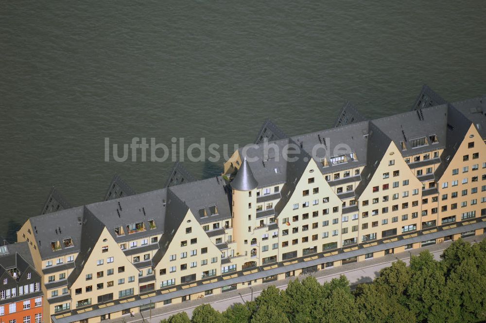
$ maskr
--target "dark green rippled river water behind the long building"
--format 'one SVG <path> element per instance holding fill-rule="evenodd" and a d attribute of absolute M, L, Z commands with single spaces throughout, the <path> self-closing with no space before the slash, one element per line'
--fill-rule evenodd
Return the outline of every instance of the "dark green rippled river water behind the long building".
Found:
<path fill-rule="evenodd" d="M 104 137 L 252 142 L 331 126 L 350 100 L 405 111 L 423 83 L 486 92 L 485 2 L 0 1 L 0 234 L 38 215 L 51 185 L 72 205 L 115 172 L 160 188 L 171 162 L 104 162 Z M 218 164 L 186 166 L 198 178 Z"/>

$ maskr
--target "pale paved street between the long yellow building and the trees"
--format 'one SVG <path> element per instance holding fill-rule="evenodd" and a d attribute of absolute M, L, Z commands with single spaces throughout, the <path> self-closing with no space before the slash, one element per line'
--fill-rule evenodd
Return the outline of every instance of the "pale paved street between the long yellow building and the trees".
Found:
<path fill-rule="evenodd" d="M 483 240 L 486 234 L 470 236 L 465 238 L 465 241 L 475 243 Z M 235 303 L 243 303 L 243 301 L 250 301 L 253 297 L 260 295 L 260 292 L 268 287 L 269 285 L 275 285 L 280 289 L 285 289 L 291 280 L 303 279 L 307 276 L 314 276 L 317 278 L 319 283 L 330 281 L 332 278 L 339 277 L 340 275 L 346 275 L 350 282 L 350 285 L 358 285 L 362 283 L 372 282 L 376 277 L 378 277 L 380 270 L 382 268 L 391 266 L 394 261 L 403 260 L 407 264 L 410 259 L 410 254 L 417 255 L 421 251 L 429 250 L 434 254 L 434 258 L 440 260 L 440 255 L 442 251 L 451 245 L 451 241 L 447 241 L 438 245 L 427 246 L 423 248 L 414 249 L 412 251 L 405 251 L 396 254 L 389 254 L 376 259 L 369 259 L 362 262 L 352 263 L 348 265 L 343 265 L 335 268 L 329 268 L 324 270 L 318 270 L 313 273 L 303 274 L 295 277 L 289 277 L 284 280 L 279 280 L 266 284 L 259 284 L 252 287 L 246 287 L 242 289 L 237 289 L 234 291 L 221 293 L 217 295 L 206 296 L 203 299 L 191 300 L 189 302 L 183 302 L 180 304 L 165 305 L 161 308 L 152 309 L 152 320 L 150 320 L 150 311 L 143 311 L 141 313 L 135 314 L 135 317 L 130 317 L 130 315 L 123 316 L 120 319 L 111 320 L 112 323 L 158 323 L 160 320 L 168 318 L 175 313 L 185 311 L 191 317 L 192 311 L 195 307 L 201 304 L 211 304 L 215 309 L 219 311 L 224 311 L 230 305 Z"/>

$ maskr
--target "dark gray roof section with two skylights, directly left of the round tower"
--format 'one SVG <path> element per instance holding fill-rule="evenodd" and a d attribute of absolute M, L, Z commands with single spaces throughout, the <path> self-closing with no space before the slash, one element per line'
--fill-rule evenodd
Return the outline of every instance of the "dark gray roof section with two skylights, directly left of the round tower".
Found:
<path fill-rule="evenodd" d="M 221 176 L 172 186 L 170 190 L 191 209 L 191 213 L 200 223 L 231 217 L 231 189 Z M 214 206 L 217 212 L 211 215 Z M 199 215 L 199 210 L 202 209 L 207 216 Z"/>

